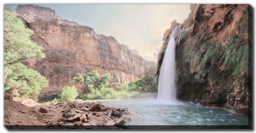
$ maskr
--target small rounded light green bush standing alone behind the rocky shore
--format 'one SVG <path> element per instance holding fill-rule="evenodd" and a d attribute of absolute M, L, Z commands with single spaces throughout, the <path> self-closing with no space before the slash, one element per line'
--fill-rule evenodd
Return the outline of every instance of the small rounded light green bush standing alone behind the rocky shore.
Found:
<path fill-rule="evenodd" d="M 60 99 L 61 101 L 67 101 L 67 102 L 72 102 L 75 100 L 75 98 L 78 96 L 77 89 L 75 86 L 64 86 L 62 88 L 61 94 L 60 94 Z"/>

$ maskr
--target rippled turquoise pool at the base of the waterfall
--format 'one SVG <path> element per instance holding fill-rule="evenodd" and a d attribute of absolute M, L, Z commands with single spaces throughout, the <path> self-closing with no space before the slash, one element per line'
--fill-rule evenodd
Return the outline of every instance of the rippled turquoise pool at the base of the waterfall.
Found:
<path fill-rule="evenodd" d="M 248 125 L 248 116 L 198 104 L 172 103 L 154 98 L 102 101 L 105 106 L 128 108 L 125 125 Z"/>

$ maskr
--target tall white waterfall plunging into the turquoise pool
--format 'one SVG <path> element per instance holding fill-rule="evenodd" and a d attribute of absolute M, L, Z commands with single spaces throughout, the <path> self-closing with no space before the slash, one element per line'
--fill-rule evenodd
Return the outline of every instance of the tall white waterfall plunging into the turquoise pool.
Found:
<path fill-rule="evenodd" d="M 163 57 L 159 78 L 157 99 L 178 102 L 176 99 L 175 84 L 175 40 L 174 34 L 178 27 L 173 29 L 169 36 L 168 45 Z"/>

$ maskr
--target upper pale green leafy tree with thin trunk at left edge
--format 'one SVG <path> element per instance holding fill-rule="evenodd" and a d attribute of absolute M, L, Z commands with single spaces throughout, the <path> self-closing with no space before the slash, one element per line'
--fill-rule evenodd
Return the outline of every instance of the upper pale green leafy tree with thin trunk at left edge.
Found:
<path fill-rule="evenodd" d="M 4 82 L 12 66 L 27 59 L 44 58 L 44 48 L 30 40 L 33 31 L 16 17 L 15 9 L 4 8 Z"/>

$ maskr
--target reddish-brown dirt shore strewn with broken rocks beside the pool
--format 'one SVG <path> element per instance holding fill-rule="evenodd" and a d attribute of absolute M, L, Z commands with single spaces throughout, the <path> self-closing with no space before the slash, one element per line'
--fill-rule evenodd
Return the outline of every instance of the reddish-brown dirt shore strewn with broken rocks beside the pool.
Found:
<path fill-rule="evenodd" d="M 28 107 L 4 94 L 4 125 L 45 126 L 48 128 L 71 126 L 118 126 L 130 121 L 128 108 L 112 108 L 100 102 L 57 102 Z M 74 127 L 73 127 L 74 128 Z M 115 127 L 117 128 L 117 127 Z"/>

